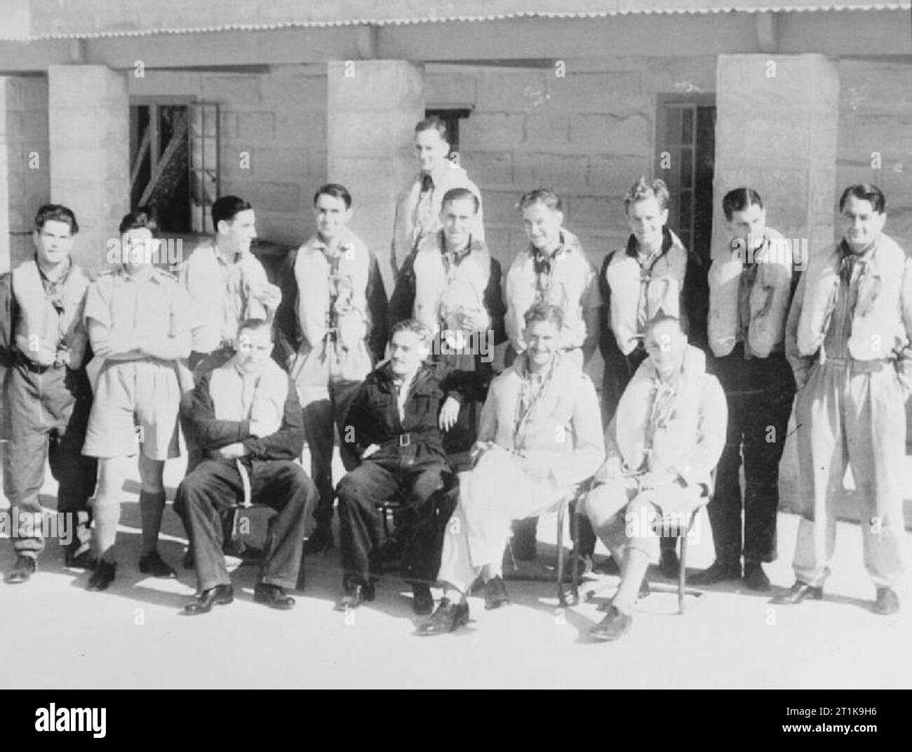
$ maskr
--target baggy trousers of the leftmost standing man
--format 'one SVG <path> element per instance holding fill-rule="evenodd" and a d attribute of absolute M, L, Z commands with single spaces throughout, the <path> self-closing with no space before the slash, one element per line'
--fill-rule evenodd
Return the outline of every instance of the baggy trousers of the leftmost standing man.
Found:
<path fill-rule="evenodd" d="M 98 463 L 82 455 L 92 390 L 86 371 L 51 368 L 37 373 L 16 362 L 6 373 L 10 439 L 4 453 L 4 494 L 19 515 L 41 515 L 38 493 L 45 458 L 57 481 L 57 512 L 71 514 L 72 550 L 88 550 L 88 498 L 95 493 Z M 44 549 L 40 526 L 33 537 L 13 538 L 13 548 L 36 558 Z"/>

